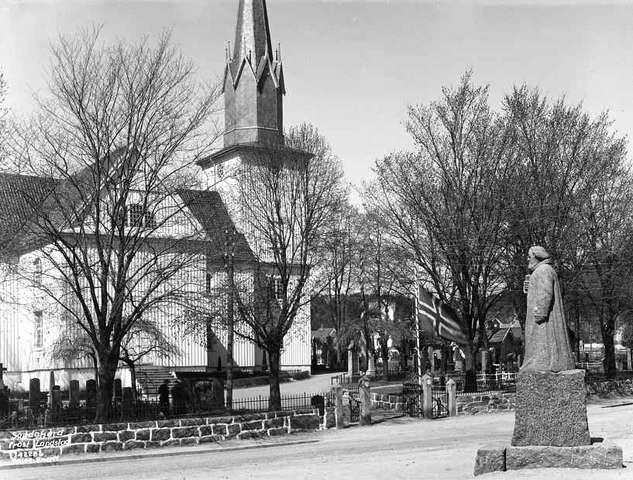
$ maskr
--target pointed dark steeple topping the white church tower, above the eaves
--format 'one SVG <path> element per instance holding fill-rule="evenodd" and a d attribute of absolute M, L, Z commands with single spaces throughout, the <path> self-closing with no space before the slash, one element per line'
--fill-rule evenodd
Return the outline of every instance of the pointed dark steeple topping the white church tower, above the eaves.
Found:
<path fill-rule="evenodd" d="M 279 51 L 272 50 L 266 0 L 240 0 L 228 52 L 224 146 L 283 144 L 283 71 Z"/>

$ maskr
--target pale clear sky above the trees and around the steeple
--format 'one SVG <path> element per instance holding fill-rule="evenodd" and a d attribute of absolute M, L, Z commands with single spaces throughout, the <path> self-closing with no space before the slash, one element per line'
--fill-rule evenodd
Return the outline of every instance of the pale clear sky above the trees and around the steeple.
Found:
<path fill-rule="evenodd" d="M 45 94 L 50 44 L 102 25 L 105 42 L 166 28 L 218 79 L 237 0 L 0 0 L 0 71 L 17 116 Z M 633 3 L 589 1 L 267 0 L 281 44 L 285 126 L 315 124 L 356 185 L 376 159 L 411 148 L 407 106 L 438 99 L 468 69 L 498 107 L 513 85 L 565 95 L 619 134 L 633 133 Z"/>

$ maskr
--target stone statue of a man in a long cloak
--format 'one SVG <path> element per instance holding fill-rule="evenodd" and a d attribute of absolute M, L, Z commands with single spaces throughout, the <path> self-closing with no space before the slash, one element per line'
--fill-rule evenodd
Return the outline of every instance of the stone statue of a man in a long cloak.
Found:
<path fill-rule="evenodd" d="M 521 372 L 561 372 L 575 368 L 567 335 L 558 275 L 543 247 L 528 251 L 531 272 L 527 290 L 525 358 Z"/>

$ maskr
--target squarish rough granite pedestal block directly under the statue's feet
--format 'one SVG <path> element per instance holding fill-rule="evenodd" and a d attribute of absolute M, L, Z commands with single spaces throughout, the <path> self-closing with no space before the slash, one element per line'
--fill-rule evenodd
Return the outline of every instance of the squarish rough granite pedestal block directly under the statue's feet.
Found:
<path fill-rule="evenodd" d="M 517 375 L 513 446 L 589 445 L 585 372 Z"/>

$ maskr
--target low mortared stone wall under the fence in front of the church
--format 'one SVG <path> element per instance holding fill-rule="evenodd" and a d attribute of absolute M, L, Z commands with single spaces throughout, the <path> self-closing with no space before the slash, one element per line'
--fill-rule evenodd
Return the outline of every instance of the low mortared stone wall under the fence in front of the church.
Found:
<path fill-rule="evenodd" d="M 253 439 L 326 428 L 318 410 L 181 418 L 0 432 L 0 461 L 46 461 L 61 455 Z"/>

